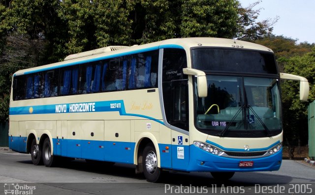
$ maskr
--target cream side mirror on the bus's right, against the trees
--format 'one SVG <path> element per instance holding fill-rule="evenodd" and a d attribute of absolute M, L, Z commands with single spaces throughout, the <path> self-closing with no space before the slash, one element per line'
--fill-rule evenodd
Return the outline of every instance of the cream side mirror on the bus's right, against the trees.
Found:
<path fill-rule="evenodd" d="M 280 73 L 280 79 L 300 81 L 300 100 L 304 102 L 307 101 L 310 93 L 310 85 L 307 79 L 286 73 Z"/>

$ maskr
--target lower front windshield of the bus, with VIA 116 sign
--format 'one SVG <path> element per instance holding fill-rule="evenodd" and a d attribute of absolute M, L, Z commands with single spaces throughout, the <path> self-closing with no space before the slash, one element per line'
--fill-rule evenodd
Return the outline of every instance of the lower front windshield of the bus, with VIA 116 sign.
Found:
<path fill-rule="evenodd" d="M 206 98 L 194 90 L 197 129 L 215 130 L 220 136 L 233 130 L 268 135 L 282 129 L 277 79 L 207 75 L 207 83 Z"/>

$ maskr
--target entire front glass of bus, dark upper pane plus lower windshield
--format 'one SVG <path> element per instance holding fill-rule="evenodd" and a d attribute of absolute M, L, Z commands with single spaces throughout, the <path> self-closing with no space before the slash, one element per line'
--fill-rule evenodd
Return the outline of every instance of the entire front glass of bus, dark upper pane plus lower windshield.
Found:
<path fill-rule="evenodd" d="M 204 56 L 193 55 L 193 67 L 208 73 L 206 76 L 208 95 L 205 98 L 198 97 L 196 79 L 194 79 L 195 126 L 199 131 L 220 137 L 270 137 L 281 132 L 282 113 L 278 79 L 251 77 L 246 76 L 246 73 L 241 76 L 233 74 L 242 70 L 250 72 L 249 69 L 255 69 L 253 73 L 256 74 L 276 74 L 276 64 L 274 59 L 271 59 L 272 55 L 249 51 L 243 54 L 235 50 L 241 59 L 236 56 L 232 59 L 234 55 L 232 50 L 227 52 L 220 50 L 219 56 L 213 55 L 210 49 L 207 54 L 211 55 L 205 55 L 206 50 L 196 51 L 203 53 Z M 227 56 L 222 57 L 220 53 L 225 53 Z M 250 54 L 246 53 L 252 53 L 252 56 L 247 56 Z M 209 56 L 213 56 L 214 59 L 211 60 Z M 220 57 L 222 59 L 218 59 Z M 245 61 L 242 61 L 242 58 Z M 247 61 L 250 58 L 252 62 Z M 273 63 L 270 64 L 271 62 Z M 205 65 L 207 63 L 208 67 Z M 230 66 L 226 63 L 234 66 L 228 69 Z M 198 67 L 197 64 L 201 65 Z M 236 71 L 236 65 L 241 67 L 240 71 Z M 212 69 L 229 72 L 232 75 L 227 76 L 223 72 L 222 76 L 218 73 L 209 75 Z"/>

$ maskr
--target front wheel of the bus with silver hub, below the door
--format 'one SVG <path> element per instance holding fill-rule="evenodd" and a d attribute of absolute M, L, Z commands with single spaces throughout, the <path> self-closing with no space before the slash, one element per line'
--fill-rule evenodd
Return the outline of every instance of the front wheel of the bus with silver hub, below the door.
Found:
<path fill-rule="evenodd" d="M 158 182 L 161 178 L 161 168 L 158 167 L 157 151 L 152 143 L 149 143 L 142 154 L 143 173 L 149 182 Z"/>

